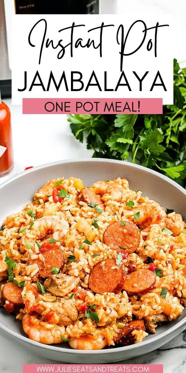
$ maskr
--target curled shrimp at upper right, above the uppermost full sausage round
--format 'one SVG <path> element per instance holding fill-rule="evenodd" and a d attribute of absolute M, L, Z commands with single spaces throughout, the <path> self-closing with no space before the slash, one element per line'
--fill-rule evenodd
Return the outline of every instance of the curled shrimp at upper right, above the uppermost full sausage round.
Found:
<path fill-rule="evenodd" d="M 137 220 L 134 219 L 136 213 L 140 212 Z M 166 225 L 166 211 L 159 203 L 155 201 L 147 201 L 135 206 L 131 211 L 125 210 L 125 216 L 130 220 L 134 220 L 135 224 L 141 229 L 148 227 L 151 224 L 160 225 L 163 229 Z"/>

